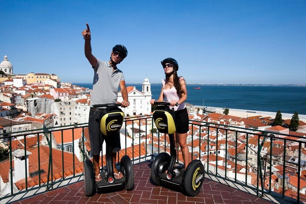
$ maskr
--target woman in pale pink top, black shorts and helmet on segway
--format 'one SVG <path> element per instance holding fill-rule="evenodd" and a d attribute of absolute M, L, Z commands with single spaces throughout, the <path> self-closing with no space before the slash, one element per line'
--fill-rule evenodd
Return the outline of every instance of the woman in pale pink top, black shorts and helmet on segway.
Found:
<path fill-rule="evenodd" d="M 187 99 L 187 89 L 184 77 L 177 76 L 177 70 L 179 65 L 173 58 L 166 58 L 161 61 L 161 65 L 164 68 L 166 78 L 162 80 L 161 94 L 157 102 L 164 101 L 164 97 L 167 98 L 167 102 L 171 104 L 175 111 L 175 126 L 176 134 L 174 138 L 178 138 L 179 146 L 181 147 L 183 160 L 185 163 L 185 169 L 189 164 L 189 149 L 187 146 L 187 132 L 189 130 L 188 113 L 184 101 Z M 154 99 L 150 101 L 154 104 Z M 178 103 L 178 106 L 175 106 Z"/>

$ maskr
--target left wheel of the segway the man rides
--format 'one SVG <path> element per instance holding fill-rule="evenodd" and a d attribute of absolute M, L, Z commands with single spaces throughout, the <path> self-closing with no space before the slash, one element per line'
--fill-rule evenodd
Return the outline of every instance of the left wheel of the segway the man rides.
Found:
<path fill-rule="evenodd" d="M 93 163 L 89 159 L 86 159 L 84 161 L 84 187 L 86 196 L 92 196 L 95 193 L 94 178 Z"/>

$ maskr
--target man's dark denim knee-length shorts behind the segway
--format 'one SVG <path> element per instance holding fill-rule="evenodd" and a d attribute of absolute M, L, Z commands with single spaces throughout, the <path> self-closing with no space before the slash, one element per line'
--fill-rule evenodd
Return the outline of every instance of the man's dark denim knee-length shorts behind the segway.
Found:
<path fill-rule="evenodd" d="M 90 149 L 94 155 L 100 154 L 104 139 L 107 137 L 106 135 L 102 134 L 100 130 L 100 120 L 104 115 L 104 112 L 104 108 L 90 108 L 89 110 L 89 140 Z M 110 139 L 112 152 L 118 152 L 121 149 L 120 133 L 110 136 Z"/>

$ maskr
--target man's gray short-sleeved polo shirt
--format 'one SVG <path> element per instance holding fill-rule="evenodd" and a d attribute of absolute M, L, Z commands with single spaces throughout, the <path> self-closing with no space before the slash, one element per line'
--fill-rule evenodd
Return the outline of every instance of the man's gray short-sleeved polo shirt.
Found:
<path fill-rule="evenodd" d="M 98 60 L 97 66 L 93 67 L 93 70 L 90 107 L 96 104 L 116 103 L 119 83 L 124 80 L 123 72 L 119 69 L 113 71 L 113 67 L 108 62 L 101 60 Z"/>

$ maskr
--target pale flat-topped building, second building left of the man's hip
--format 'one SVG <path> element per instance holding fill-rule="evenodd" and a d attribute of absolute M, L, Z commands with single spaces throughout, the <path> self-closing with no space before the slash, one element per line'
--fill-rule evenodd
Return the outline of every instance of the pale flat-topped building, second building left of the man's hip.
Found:
<path fill-rule="evenodd" d="M 74 102 L 60 101 L 51 105 L 51 113 L 55 113 L 54 126 L 65 126 L 74 123 Z"/>

